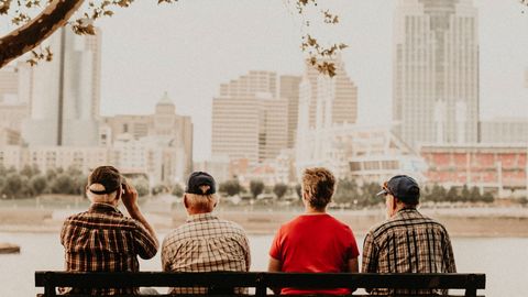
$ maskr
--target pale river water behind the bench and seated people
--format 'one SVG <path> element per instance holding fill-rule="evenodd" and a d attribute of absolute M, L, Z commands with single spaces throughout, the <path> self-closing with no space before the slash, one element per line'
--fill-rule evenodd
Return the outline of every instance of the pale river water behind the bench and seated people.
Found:
<path fill-rule="evenodd" d="M 250 237 L 252 271 L 265 271 L 272 235 Z M 358 238 L 362 242 L 363 238 Z M 55 233 L 0 232 L 0 242 L 21 246 L 20 254 L 0 255 L 0 296 L 35 296 L 35 271 L 63 268 L 63 248 Z M 528 239 L 453 238 L 457 266 L 461 273 L 485 273 L 487 297 L 526 297 L 528 294 Z M 361 244 L 360 244 L 361 245 Z M 360 246 L 361 250 L 361 246 Z M 160 271 L 160 256 L 141 261 L 142 271 Z"/>

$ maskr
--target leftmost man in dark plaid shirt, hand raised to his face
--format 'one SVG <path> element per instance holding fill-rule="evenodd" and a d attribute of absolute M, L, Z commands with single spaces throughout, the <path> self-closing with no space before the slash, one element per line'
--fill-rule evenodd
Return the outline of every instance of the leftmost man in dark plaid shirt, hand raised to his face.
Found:
<path fill-rule="evenodd" d="M 154 229 L 138 206 L 138 191 L 112 166 L 97 167 L 88 177 L 88 211 L 66 219 L 61 232 L 68 272 L 138 272 L 138 255 L 152 258 L 158 248 Z M 123 201 L 131 218 L 118 209 Z M 139 294 L 131 288 L 61 288 L 89 295 Z"/>

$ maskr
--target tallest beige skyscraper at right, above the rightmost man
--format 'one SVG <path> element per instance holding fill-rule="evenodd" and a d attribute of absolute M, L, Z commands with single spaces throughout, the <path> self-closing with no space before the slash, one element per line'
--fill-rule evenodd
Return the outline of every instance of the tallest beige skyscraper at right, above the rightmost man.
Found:
<path fill-rule="evenodd" d="M 479 141 L 479 24 L 471 0 L 399 0 L 393 120 L 420 143 Z"/>

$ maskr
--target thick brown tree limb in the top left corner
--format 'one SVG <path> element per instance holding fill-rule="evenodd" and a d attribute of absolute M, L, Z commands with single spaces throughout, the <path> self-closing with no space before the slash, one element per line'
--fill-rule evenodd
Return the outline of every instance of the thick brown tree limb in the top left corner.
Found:
<path fill-rule="evenodd" d="M 84 0 L 53 0 L 31 22 L 0 38 L 0 68 L 12 59 L 35 48 L 64 26 Z"/>

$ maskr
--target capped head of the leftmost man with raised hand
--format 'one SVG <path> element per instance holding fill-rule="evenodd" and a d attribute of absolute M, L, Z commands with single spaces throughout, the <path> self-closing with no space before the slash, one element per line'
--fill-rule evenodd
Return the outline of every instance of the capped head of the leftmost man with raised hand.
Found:
<path fill-rule="evenodd" d="M 108 201 L 116 198 L 123 178 L 113 166 L 99 166 L 88 176 L 88 198 L 92 201 Z"/>

